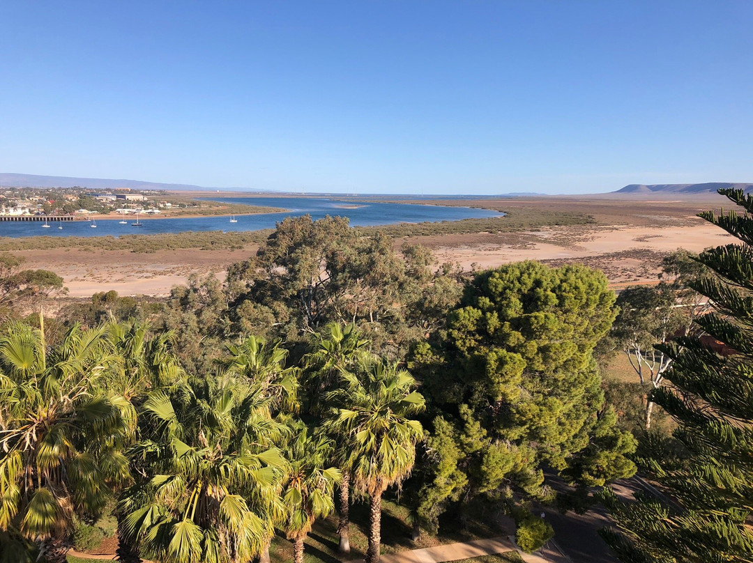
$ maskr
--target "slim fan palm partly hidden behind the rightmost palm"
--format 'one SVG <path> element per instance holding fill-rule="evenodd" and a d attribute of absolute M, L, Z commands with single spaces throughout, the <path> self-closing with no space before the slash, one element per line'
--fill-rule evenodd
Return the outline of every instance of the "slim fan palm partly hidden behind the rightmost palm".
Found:
<path fill-rule="evenodd" d="M 309 411 L 321 414 L 328 410 L 328 405 L 322 401 L 327 391 L 342 385 L 340 374 L 343 371 L 353 373 L 359 361 L 367 358 L 369 341 L 361 336 L 355 324 L 343 327 L 338 323 L 331 323 L 317 335 L 316 348 L 306 355 L 306 387 L 309 396 Z M 340 536 L 340 553 L 350 552 L 350 472 L 347 466 L 349 455 L 347 445 L 338 440 L 335 452 L 337 464 L 342 473 L 338 495 L 337 534 Z"/>

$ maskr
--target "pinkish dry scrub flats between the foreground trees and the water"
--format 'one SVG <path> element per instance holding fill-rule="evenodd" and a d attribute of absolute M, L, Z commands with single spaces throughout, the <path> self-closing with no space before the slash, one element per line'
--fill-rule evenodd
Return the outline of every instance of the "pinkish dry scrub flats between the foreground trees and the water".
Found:
<path fill-rule="evenodd" d="M 343 205 L 348 203 L 343 198 Z M 551 196 L 431 203 L 492 208 L 508 216 L 361 230 L 384 230 L 395 237 L 398 246 L 419 242 L 431 248 L 441 262 L 457 262 L 468 270 L 527 259 L 552 265 L 584 263 L 602 269 L 615 288 L 653 283 L 662 257 L 676 248 L 700 251 L 732 240 L 695 217 L 697 212 L 724 203 L 724 198 L 715 195 L 684 199 Z M 223 275 L 230 263 L 253 254 L 267 234 L 32 237 L 0 239 L 0 250 L 25 257 L 29 267 L 57 272 L 65 279 L 71 297 L 111 289 L 123 295 L 159 296 L 194 272 Z"/>

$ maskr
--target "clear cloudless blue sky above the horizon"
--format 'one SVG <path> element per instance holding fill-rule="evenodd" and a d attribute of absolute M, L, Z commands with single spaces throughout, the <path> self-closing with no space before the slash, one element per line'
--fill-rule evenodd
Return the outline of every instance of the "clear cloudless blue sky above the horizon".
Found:
<path fill-rule="evenodd" d="M 753 182 L 753 2 L 0 3 L 0 172 L 261 190 Z"/>

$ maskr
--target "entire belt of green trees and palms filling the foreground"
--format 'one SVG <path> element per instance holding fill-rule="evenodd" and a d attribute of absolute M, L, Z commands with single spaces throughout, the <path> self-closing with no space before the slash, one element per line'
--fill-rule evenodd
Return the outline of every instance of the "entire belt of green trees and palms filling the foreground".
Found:
<path fill-rule="evenodd" d="M 54 279 L 8 262 L 25 306 L 0 330 L 2 558 L 64 561 L 115 522 L 121 561 L 268 561 L 275 534 L 303 561 L 330 514 L 349 552 L 356 514 L 365 538 L 342 557 L 373 563 L 383 501 L 413 538 L 504 513 L 535 550 L 553 530 L 533 506 L 585 510 L 602 491 L 626 561 L 748 561 L 749 254 L 707 251 L 701 281 L 675 254 L 657 288 L 617 298 L 584 266 L 465 275 L 383 230 L 288 218 L 224 282 L 56 318 L 25 316 Z M 608 379 L 615 354 L 634 383 Z M 646 428 L 652 410 L 674 434 Z M 610 495 L 636 467 L 669 504 Z"/>

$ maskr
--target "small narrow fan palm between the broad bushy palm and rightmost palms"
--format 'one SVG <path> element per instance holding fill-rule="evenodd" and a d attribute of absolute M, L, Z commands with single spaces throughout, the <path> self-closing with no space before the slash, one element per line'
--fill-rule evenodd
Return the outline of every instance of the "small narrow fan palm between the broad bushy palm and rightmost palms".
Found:
<path fill-rule="evenodd" d="M 295 563 L 303 563 L 306 534 L 317 518 L 326 518 L 334 510 L 334 487 L 340 481 L 340 470 L 331 465 L 332 440 L 310 434 L 303 423 L 294 430 L 296 434 L 284 450 L 290 470 L 282 490 L 286 511 L 283 528 L 293 540 Z"/>

